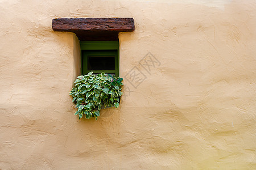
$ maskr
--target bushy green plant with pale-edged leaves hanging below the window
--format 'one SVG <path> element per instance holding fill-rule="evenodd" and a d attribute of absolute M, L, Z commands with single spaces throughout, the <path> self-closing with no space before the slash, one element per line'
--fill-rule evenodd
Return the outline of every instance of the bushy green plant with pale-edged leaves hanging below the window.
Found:
<path fill-rule="evenodd" d="M 97 120 L 102 107 L 118 108 L 122 96 L 122 80 L 105 73 L 94 75 L 90 72 L 78 76 L 74 82 L 75 87 L 69 93 L 78 108 L 75 115 L 78 114 L 80 119 L 85 114 L 85 118 L 95 117 Z"/>

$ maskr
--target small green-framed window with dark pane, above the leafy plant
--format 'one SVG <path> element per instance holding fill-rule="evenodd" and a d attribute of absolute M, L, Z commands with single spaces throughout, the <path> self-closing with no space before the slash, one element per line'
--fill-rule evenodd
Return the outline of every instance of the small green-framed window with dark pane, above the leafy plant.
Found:
<path fill-rule="evenodd" d="M 119 41 L 80 41 L 81 73 L 119 76 Z"/>

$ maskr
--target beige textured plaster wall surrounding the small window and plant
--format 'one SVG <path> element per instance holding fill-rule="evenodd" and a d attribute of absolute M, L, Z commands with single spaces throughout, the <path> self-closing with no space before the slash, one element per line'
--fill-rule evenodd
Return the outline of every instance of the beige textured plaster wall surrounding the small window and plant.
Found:
<path fill-rule="evenodd" d="M 126 96 L 97 121 L 73 115 L 79 41 L 60 17 L 135 20 Z M 0 169 L 256 169 L 255 1 L 2 0 L 0 20 Z"/>

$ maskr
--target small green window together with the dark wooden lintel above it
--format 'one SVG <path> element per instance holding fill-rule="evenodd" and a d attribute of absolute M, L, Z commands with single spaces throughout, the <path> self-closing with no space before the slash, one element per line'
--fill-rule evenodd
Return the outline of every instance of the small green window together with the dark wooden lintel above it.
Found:
<path fill-rule="evenodd" d="M 73 32 L 80 40 L 81 74 L 119 76 L 119 32 L 135 29 L 133 18 L 56 18 L 53 31 Z"/>

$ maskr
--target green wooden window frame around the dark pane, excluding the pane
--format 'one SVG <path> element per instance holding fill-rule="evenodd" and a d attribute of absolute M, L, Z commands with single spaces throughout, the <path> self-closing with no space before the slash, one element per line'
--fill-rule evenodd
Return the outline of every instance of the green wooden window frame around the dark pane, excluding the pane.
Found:
<path fill-rule="evenodd" d="M 119 76 L 119 41 L 80 41 L 81 74 L 108 73 Z M 114 57 L 114 70 L 88 70 L 89 57 Z"/>

